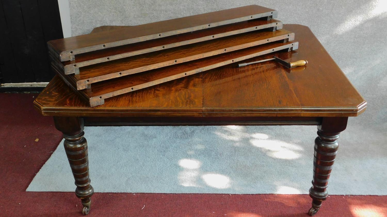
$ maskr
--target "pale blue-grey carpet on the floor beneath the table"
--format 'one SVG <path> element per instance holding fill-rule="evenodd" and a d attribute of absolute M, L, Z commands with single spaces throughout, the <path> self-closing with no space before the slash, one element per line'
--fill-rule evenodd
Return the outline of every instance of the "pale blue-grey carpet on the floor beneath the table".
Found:
<path fill-rule="evenodd" d="M 387 195 L 384 143 L 377 132 L 355 126 L 339 138 L 328 191 Z M 315 126 L 87 127 L 85 137 L 96 192 L 307 194 L 316 131 Z M 60 143 L 27 191 L 74 189 Z"/>

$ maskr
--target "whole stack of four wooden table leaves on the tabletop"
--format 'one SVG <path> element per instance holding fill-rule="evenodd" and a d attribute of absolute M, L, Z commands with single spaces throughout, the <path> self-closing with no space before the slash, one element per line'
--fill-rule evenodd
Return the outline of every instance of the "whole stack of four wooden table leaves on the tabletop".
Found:
<path fill-rule="evenodd" d="M 53 70 L 90 106 L 98 106 L 119 94 L 297 49 L 298 42 L 290 42 L 294 34 L 283 30 L 273 15 L 272 9 L 250 5 L 58 39 L 48 45 Z"/>

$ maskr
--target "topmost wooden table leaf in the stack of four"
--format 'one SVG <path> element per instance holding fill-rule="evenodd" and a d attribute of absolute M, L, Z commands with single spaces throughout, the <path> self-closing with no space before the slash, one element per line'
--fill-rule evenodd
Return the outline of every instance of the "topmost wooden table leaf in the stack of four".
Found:
<path fill-rule="evenodd" d="M 258 5 L 204 13 L 172 20 L 133 26 L 130 29 L 103 31 L 65 39 L 51 40 L 48 47 L 60 61 L 73 61 L 75 54 L 102 50 L 145 40 L 208 29 L 262 17 L 276 18 L 277 11 Z"/>

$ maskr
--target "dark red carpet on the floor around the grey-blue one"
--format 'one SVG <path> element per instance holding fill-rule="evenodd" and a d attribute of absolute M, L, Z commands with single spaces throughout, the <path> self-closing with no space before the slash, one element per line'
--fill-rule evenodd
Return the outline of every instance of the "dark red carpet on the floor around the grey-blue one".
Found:
<path fill-rule="evenodd" d="M 0 216 L 82 216 L 74 193 L 25 191 L 62 140 L 34 110 L 36 96 L 0 93 Z M 386 202 L 334 195 L 315 216 L 387 216 Z M 310 205 L 308 195 L 95 193 L 89 216 L 308 216 Z"/>

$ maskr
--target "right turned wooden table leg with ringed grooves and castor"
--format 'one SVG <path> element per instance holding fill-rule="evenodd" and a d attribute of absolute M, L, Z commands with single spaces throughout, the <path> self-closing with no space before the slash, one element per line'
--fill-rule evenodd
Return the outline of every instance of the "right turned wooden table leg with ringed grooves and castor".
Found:
<path fill-rule="evenodd" d="M 327 187 L 330 172 L 336 158 L 339 143 L 339 133 L 345 130 L 348 117 L 323 118 L 322 124 L 317 127 L 317 138 L 314 145 L 313 180 L 309 189 L 312 198 L 312 208 L 308 214 L 313 216 L 319 211 L 322 201 L 328 197 Z"/>

